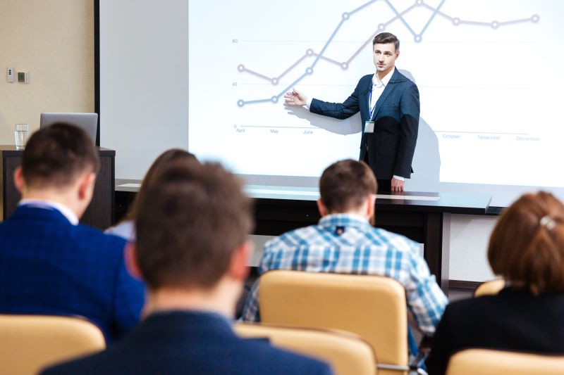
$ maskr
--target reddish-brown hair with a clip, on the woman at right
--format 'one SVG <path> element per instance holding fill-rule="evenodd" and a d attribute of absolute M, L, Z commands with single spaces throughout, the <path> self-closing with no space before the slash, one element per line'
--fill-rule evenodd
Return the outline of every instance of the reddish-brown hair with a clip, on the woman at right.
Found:
<path fill-rule="evenodd" d="M 564 205 L 544 191 L 521 196 L 499 218 L 488 260 L 514 286 L 563 293 Z"/>

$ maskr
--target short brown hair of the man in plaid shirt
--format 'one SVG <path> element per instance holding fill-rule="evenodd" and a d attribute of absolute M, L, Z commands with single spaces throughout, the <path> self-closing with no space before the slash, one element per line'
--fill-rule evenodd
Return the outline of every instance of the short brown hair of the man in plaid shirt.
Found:
<path fill-rule="evenodd" d="M 377 189 L 376 177 L 367 163 L 352 159 L 329 165 L 319 179 L 321 202 L 331 213 L 359 208 Z"/>

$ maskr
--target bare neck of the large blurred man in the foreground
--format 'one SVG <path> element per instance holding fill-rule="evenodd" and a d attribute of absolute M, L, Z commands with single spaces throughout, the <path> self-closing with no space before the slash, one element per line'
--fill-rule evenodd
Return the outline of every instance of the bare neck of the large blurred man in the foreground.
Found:
<path fill-rule="evenodd" d="M 237 284 L 237 285 L 235 285 Z M 147 293 L 147 304 L 143 316 L 152 312 L 171 310 L 198 310 L 217 312 L 226 317 L 235 315 L 235 303 L 239 298 L 241 285 L 226 280 L 211 289 L 201 288 L 159 288 Z"/>

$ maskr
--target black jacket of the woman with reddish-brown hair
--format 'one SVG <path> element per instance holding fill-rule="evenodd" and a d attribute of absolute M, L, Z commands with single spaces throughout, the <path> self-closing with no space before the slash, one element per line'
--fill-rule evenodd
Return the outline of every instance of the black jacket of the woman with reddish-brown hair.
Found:
<path fill-rule="evenodd" d="M 450 355 L 466 348 L 564 354 L 564 294 L 535 297 L 503 289 L 446 307 L 427 359 L 430 375 L 444 374 Z"/>

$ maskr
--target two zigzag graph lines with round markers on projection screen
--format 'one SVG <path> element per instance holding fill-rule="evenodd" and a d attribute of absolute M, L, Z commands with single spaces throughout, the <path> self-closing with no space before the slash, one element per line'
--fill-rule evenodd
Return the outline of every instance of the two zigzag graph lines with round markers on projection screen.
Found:
<path fill-rule="evenodd" d="M 326 49 L 329 47 L 331 42 L 333 42 L 333 39 L 335 38 L 338 31 L 341 29 L 343 24 L 345 22 L 347 22 L 348 20 L 350 20 L 352 15 L 364 10 L 365 8 L 371 6 L 372 4 L 376 3 L 377 1 L 380 1 L 380 2 L 383 1 L 384 3 L 386 3 L 386 5 L 395 14 L 393 16 L 393 18 L 386 21 L 385 23 L 380 23 L 378 25 L 376 31 L 373 32 L 372 35 L 368 39 L 366 39 L 360 45 L 360 47 L 353 53 L 353 55 L 351 55 L 347 60 L 338 61 L 334 58 L 329 58 L 329 57 L 325 56 Z M 386 30 L 386 27 L 388 27 L 388 25 L 395 22 L 396 20 L 400 20 L 400 22 L 405 26 L 405 28 L 410 32 L 410 34 L 412 34 L 414 41 L 416 43 L 420 43 L 423 40 L 424 33 L 427 31 L 427 29 L 429 28 L 429 26 L 431 25 L 431 23 L 433 22 L 433 20 L 436 18 L 437 15 L 439 15 L 441 18 L 444 18 L 444 19 L 450 21 L 450 23 L 452 23 L 452 25 L 455 26 L 455 27 L 460 26 L 460 25 L 472 25 L 472 26 L 491 27 L 491 29 L 493 29 L 493 30 L 496 30 L 499 27 L 503 27 L 503 26 L 506 26 L 506 25 L 515 25 L 517 23 L 538 23 L 539 19 L 540 19 L 539 15 L 534 14 L 534 15 L 528 17 L 528 18 L 520 18 L 520 19 L 516 19 L 516 20 L 505 20 L 505 21 L 493 20 L 493 21 L 490 21 L 490 22 L 484 22 L 484 21 L 477 21 L 477 20 L 464 20 L 464 19 L 461 19 L 459 17 L 453 17 L 451 15 L 443 13 L 441 11 L 441 8 L 442 8 L 443 4 L 445 3 L 445 1 L 446 0 L 441 0 L 440 4 L 436 7 L 434 7 L 434 6 L 431 6 L 427 3 L 425 3 L 424 0 L 416 0 L 413 4 L 411 4 L 410 6 L 405 8 L 403 11 L 398 11 L 393 6 L 393 4 L 391 4 L 390 0 L 370 0 L 370 1 L 367 1 L 366 3 L 362 4 L 358 8 L 355 8 L 353 11 L 342 13 L 341 20 L 339 21 L 335 30 L 333 30 L 333 32 L 331 33 L 331 36 L 329 37 L 329 39 L 327 39 L 327 41 L 324 43 L 324 46 L 321 48 L 321 50 L 319 52 L 316 52 L 316 51 L 314 51 L 314 49 L 311 49 L 311 48 L 307 49 L 305 51 L 305 53 L 302 56 L 300 56 L 300 58 L 298 58 L 298 60 L 296 60 L 294 63 L 290 64 L 290 66 L 288 66 L 288 68 L 283 70 L 283 72 L 279 73 L 278 75 L 268 76 L 268 75 L 266 75 L 262 72 L 257 72 L 255 70 L 249 69 L 249 68 L 247 68 L 247 66 L 245 66 L 244 64 L 241 63 L 237 66 L 238 72 L 246 73 L 248 75 L 252 75 L 252 76 L 255 76 L 255 77 L 259 77 L 262 80 L 270 82 L 273 86 L 277 86 L 278 84 L 280 84 L 281 79 L 283 77 L 286 77 L 286 75 L 288 75 L 293 70 L 295 70 L 295 68 L 297 68 L 298 65 L 300 65 L 300 63 L 302 63 L 303 61 L 305 61 L 309 58 L 314 58 L 314 61 L 312 62 L 312 64 L 309 65 L 306 68 L 305 72 L 303 72 L 302 75 L 297 77 L 292 83 L 286 85 L 286 87 L 283 90 L 279 91 L 277 94 L 274 94 L 270 98 L 259 98 L 259 99 L 255 99 L 255 100 L 239 99 L 237 101 L 237 105 L 239 107 L 243 107 L 243 106 L 248 105 L 248 104 L 256 104 L 256 103 L 268 103 L 268 102 L 278 103 L 281 96 L 283 96 L 289 89 L 293 88 L 296 84 L 298 84 L 299 82 L 304 80 L 305 77 L 307 77 L 308 75 L 312 75 L 314 73 L 314 68 L 317 65 L 317 63 L 319 63 L 319 61 L 324 61 L 326 63 L 338 65 L 338 66 L 341 67 L 341 69 L 347 70 L 350 66 L 350 63 L 362 52 L 362 50 L 367 46 L 367 44 L 372 42 L 372 40 L 374 39 L 376 34 Z M 422 30 L 420 32 L 415 32 L 415 30 L 413 30 L 412 26 L 409 23 L 407 23 L 407 20 L 405 20 L 405 15 L 407 15 L 407 13 L 410 13 L 411 11 L 413 11 L 415 8 L 426 8 L 427 10 L 431 11 L 431 15 L 429 16 L 427 23 L 425 23 L 425 25 L 422 27 Z"/>

